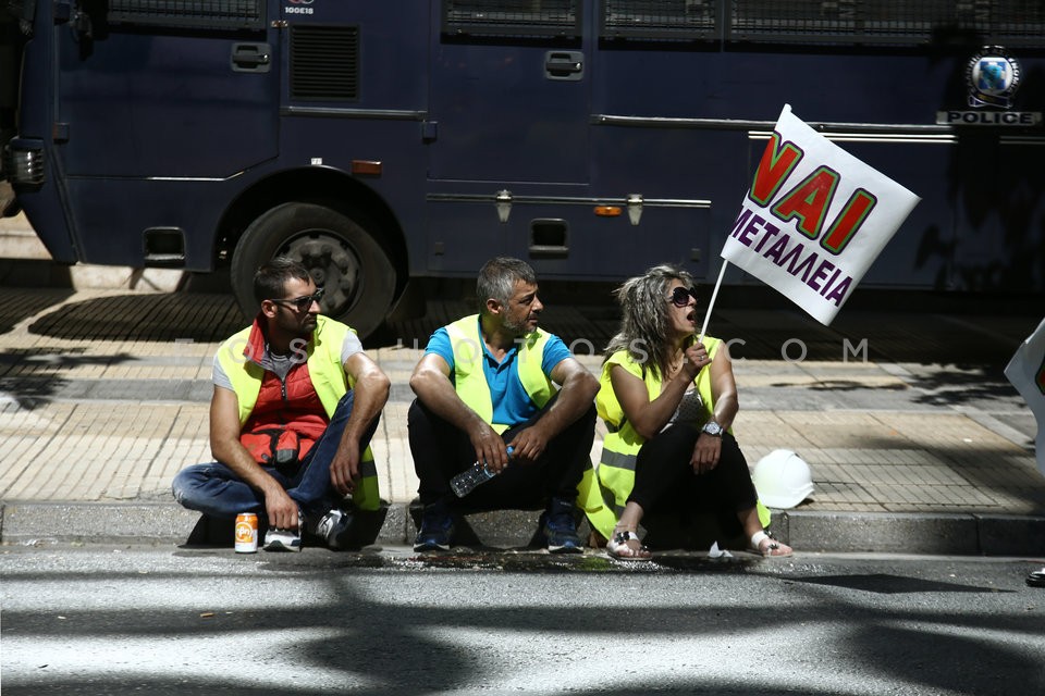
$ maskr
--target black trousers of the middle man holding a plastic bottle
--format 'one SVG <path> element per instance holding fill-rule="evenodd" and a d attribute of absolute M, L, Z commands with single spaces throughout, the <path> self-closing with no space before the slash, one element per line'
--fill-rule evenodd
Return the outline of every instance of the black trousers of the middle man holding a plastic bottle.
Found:
<path fill-rule="evenodd" d="M 501 437 L 511 443 L 554 402 L 555 397 L 530 420 L 505 431 Z M 592 405 L 553 437 L 539 459 L 527 463 L 513 461 L 500 475 L 477 486 L 464 498 L 454 495 L 450 480 L 476 461 L 476 450 L 468 436 L 417 399 L 407 413 L 407 428 L 422 505 L 442 500 L 477 510 L 538 510 L 552 497 L 570 502 L 577 498 L 577 484 L 589 464 L 595 436 L 595 407 Z"/>

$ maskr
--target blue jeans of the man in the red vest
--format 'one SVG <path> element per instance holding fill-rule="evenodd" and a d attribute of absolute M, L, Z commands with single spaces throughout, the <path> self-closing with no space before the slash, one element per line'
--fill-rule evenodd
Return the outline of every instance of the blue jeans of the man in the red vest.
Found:
<path fill-rule="evenodd" d="M 342 397 L 327 430 L 293 476 L 284 475 L 273 467 L 261 467 L 297 501 L 306 518 L 325 513 L 342 499 L 330 483 L 330 462 L 341 444 L 354 400 L 353 391 Z M 359 443 L 360 453 L 370 444 L 379 418 L 368 425 Z M 257 512 L 259 518 L 265 518 L 265 498 L 221 462 L 186 467 L 174 476 L 171 490 L 182 506 L 213 518 L 235 518 L 241 512 Z"/>

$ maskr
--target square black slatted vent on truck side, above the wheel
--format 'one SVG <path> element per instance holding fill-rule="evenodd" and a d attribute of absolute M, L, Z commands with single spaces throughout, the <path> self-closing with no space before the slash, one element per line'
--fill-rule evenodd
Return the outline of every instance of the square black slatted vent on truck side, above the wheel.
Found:
<path fill-rule="evenodd" d="M 291 99 L 359 97 L 359 27 L 291 27 Z"/>

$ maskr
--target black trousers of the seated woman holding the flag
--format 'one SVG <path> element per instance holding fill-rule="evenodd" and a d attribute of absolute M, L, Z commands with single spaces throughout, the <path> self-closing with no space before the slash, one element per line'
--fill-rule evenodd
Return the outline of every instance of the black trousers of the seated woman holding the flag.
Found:
<path fill-rule="evenodd" d="M 646 512 L 683 506 L 730 513 L 734 519 L 737 512 L 753 508 L 758 493 L 736 438 L 723 433 L 718 464 L 697 474 L 689 460 L 698 437 L 699 427 L 680 423 L 648 439 L 636 458 L 628 501 L 638 502 Z"/>

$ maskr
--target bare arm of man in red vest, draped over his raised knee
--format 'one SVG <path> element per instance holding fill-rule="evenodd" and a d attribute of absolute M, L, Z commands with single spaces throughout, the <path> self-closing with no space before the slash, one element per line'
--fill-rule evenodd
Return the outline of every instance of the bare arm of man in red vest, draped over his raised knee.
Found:
<path fill-rule="evenodd" d="M 366 353 L 354 353 L 345 361 L 345 374 L 352 377 L 352 413 L 342 432 L 337 451 L 330 462 L 330 482 L 343 496 L 349 495 L 359 478 L 359 444 L 373 419 L 389 400 L 392 382 Z"/>

